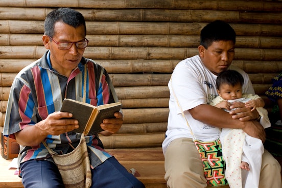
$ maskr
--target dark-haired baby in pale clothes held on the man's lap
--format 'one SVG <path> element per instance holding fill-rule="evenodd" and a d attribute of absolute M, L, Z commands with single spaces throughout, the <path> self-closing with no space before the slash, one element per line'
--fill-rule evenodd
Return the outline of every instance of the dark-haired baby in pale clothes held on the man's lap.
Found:
<path fill-rule="evenodd" d="M 245 103 L 246 108 L 251 108 L 252 111 L 256 109 L 260 115 L 264 116 L 265 121 L 269 122 L 267 111 L 262 108 L 265 105 L 264 100 L 257 95 L 243 93 L 243 83 L 244 78 L 236 70 L 226 70 L 220 73 L 216 82 L 219 96 L 209 104 L 225 111 L 230 111 L 234 110 L 230 109 L 233 102 L 242 102 Z M 240 171 L 237 179 L 242 178 L 243 187 L 258 187 L 259 179 L 257 176 L 260 176 L 260 162 L 264 153 L 262 141 L 247 135 L 241 129 L 228 128 L 222 129 L 220 141 L 222 144 L 223 158 L 226 162 L 225 176 L 229 185 L 232 184 L 233 179 L 236 179 L 234 178 L 234 172 L 238 172 L 237 166 L 240 164 L 238 160 L 241 160 L 240 168 L 247 170 L 249 173 L 243 173 L 242 171 L 241 174 Z M 255 155 L 253 155 L 254 153 Z"/>

